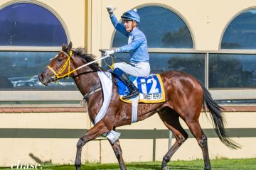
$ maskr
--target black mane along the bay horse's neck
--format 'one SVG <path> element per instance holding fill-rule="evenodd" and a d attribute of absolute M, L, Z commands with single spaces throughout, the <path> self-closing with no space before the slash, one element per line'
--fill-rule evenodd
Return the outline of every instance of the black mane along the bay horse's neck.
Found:
<path fill-rule="evenodd" d="M 95 60 L 95 56 L 87 54 L 87 52 L 85 52 L 85 50 L 80 47 L 73 50 L 73 54 L 80 57 L 82 60 L 85 60 L 86 62 L 92 62 Z M 97 62 L 94 62 L 94 63 L 90 64 L 89 66 L 91 67 L 91 69 L 94 72 L 102 71 L 102 67 L 100 67 L 99 63 L 97 63 Z"/>

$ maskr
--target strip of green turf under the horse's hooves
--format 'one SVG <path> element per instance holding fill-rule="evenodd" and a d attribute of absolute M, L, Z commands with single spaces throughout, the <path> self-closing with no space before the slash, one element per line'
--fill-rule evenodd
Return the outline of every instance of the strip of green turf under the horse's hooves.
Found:
<path fill-rule="evenodd" d="M 213 159 L 210 161 L 213 170 L 256 170 L 256 158 L 255 159 Z M 171 170 L 185 170 L 192 169 L 198 170 L 203 169 L 203 160 L 193 161 L 174 161 L 169 164 Z M 10 168 L 0 168 L 10 169 Z M 68 170 L 75 169 L 73 165 L 53 165 L 44 164 L 42 169 L 49 170 Z M 118 164 L 83 164 L 83 169 L 111 169 L 118 170 Z M 134 162 L 127 163 L 127 169 L 129 170 L 145 170 L 145 169 L 161 169 L 161 162 Z"/>

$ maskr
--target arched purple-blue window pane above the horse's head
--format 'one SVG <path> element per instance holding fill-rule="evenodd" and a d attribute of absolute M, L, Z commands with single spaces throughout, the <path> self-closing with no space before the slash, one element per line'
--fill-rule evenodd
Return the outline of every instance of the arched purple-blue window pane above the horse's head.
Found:
<path fill-rule="evenodd" d="M 58 18 L 36 4 L 18 3 L 0 10 L 0 45 L 60 46 L 68 39 Z"/>

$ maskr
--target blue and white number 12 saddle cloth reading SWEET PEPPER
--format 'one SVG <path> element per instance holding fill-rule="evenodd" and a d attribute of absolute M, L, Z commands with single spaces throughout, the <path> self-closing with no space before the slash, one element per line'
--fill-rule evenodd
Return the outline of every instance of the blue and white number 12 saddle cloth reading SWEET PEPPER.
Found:
<path fill-rule="evenodd" d="M 149 77 L 129 77 L 139 89 L 139 103 L 160 103 L 165 101 L 164 85 L 159 74 L 150 74 Z M 122 97 L 129 93 L 129 89 L 117 78 L 119 97 L 122 101 L 132 103 L 132 100 Z"/>

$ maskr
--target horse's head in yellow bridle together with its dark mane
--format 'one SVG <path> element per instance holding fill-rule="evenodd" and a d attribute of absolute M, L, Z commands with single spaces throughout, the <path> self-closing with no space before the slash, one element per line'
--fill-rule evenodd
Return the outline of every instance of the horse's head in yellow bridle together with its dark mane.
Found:
<path fill-rule="evenodd" d="M 87 55 L 83 49 L 72 50 L 72 42 L 68 46 L 63 44 L 62 50 L 50 60 L 48 67 L 39 74 L 39 81 L 47 86 L 50 82 L 58 79 L 77 76 L 79 67 L 92 61 L 94 61 L 92 55 Z M 92 63 L 85 67 L 83 72 L 97 72 L 100 69 L 97 63 Z"/>

